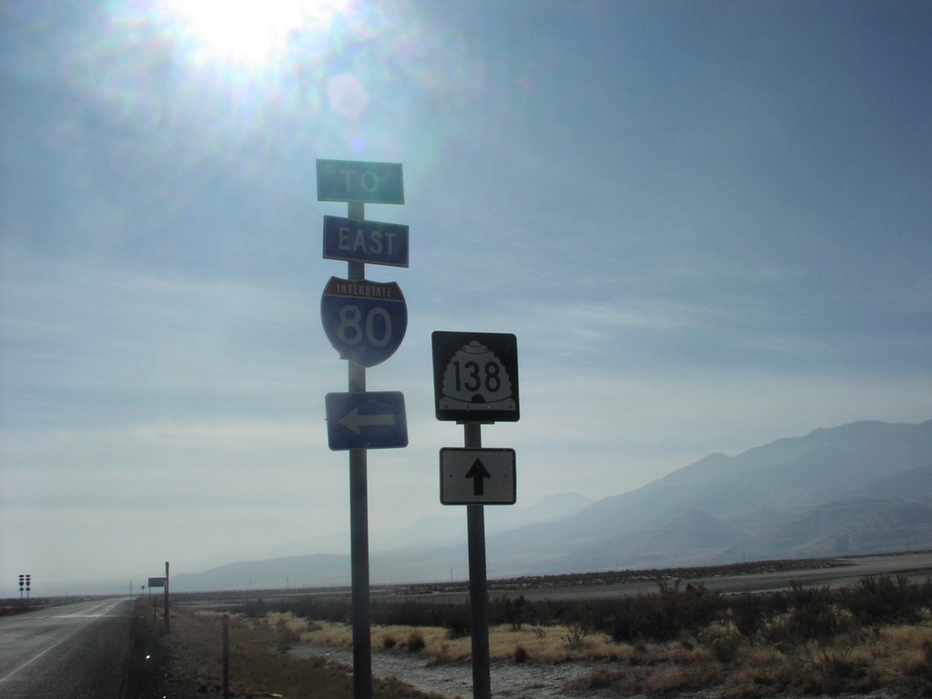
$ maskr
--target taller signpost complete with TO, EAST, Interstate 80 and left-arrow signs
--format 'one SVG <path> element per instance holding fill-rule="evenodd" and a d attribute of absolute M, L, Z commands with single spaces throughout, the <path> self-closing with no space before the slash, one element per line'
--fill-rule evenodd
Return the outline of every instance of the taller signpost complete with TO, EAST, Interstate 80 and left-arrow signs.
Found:
<path fill-rule="evenodd" d="M 407 267 L 407 226 L 365 221 L 365 202 L 404 204 L 398 163 L 317 161 L 317 199 L 346 201 L 348 218 L 324 217 L 323 256 L 347 261 L 345 283 L 324 289 L 324 332 L 347 360 L 348 393 L 325 399 L 328 443 L 349 450 L 349 545 L 352 590 L 353 698 L 372 699 L 367 449 L 407 445 L 404 396 L 366 393 L 365 368 L 388 359 L 407 327 L 397 284 L 365 280 L 365 263 Z"/>

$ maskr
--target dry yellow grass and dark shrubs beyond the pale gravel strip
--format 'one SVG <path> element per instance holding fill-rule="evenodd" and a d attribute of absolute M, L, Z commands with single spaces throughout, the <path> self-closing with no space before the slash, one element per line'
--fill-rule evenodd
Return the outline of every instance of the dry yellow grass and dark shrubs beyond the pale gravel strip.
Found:
<path fill-rule="evenodd" d="M 300 624 L 300 623 L 299 623 Z M 351 647 L 347 624 L 318 622 L 301 639 Z M 469 637 L 447 637 L 445 629 L 418 627 L 419 652 L 436 662 L 465 661 Z M 409 626 L 374 626 L 373 648 L 404 652 Z M 388 642 L 386 639 L 389 639 Z M 522 649 L 516 655 L 517 649 Z M 520 656 L 520 662 L 614 661 L 573 683 L 575 691 L 611 689 L 623 695 L 668 694 L 715 689 L 724 697 L 767 697 L 894 692 L 932 696 L 932 628 L 889 626 L 854 631 L 827 643 L 810 641 L 778 647 L 752 644 L 729 624 L 665 643 L 614 643 L 604 635 L 574 637 L 572 627 L 509 625 L 489 629 L 493 661 Z"/>

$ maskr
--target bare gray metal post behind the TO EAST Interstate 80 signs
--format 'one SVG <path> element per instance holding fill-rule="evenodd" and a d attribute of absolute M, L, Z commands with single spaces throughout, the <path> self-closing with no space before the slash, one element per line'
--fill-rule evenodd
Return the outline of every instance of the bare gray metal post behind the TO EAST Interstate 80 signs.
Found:
<path fill-rule="evenodd" d="M 365 204 L 349 202 L 349 218 L 362 221 Z M 365 279 L 365 264 L 348 262 L 349 279 Z M 349 392 L 365 392 L 365 367 L 349 361 Z M 353 699 L 372 699 L 372 629 L 369 612 L 369 492 L 366 450 L 349 450 L 349 546 L 352 575 Z"/>

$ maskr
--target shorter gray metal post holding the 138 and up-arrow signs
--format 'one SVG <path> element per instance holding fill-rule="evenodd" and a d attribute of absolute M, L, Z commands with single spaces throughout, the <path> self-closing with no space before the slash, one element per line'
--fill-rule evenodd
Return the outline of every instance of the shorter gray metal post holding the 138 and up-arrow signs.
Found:
<path fill-rule="evenodd" d="M 482 424 L 463 423 L 467 449 L 482 448 Z M 486 580 L 485 505 L 466 505 L 469 536 L 469 600 L 473 628 L 473 699 L 491 699 L 492 680 L 488 659 L 488 585 Z"/>

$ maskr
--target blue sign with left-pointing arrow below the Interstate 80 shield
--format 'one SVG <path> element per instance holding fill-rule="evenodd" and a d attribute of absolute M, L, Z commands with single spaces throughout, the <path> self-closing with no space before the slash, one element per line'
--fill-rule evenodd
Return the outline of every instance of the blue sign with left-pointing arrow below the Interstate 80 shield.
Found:
<path fill-rule="evenodd" d="M 327 441 L 334 451 L 407 446 L 404 394 L 327 393 Z"/>

